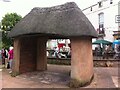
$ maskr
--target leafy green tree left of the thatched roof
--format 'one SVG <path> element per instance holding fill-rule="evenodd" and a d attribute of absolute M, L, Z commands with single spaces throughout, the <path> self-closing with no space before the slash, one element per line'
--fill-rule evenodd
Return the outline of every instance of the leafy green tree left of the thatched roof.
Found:
<path fill-rule="evenodd" d="M 2 29 L 2 46 L 4 48 L 8 48 L 13 45 L 13 40 L 8 37 L 8 33 L 12 30 L 16 23 L 21 20 L 21 16 L 17 15 L 17 13 L 7 13 L 3 19 L 1 24 Z"/>

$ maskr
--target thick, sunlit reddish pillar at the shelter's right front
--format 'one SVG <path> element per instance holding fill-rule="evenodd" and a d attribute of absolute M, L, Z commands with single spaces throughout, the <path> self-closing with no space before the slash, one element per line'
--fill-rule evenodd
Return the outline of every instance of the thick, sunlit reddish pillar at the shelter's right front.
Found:
<path fill-rule="evenodd" d="M 92 38 L 71 38 L 71 49 L 71 79 L 82 86 L 93 76 Z"/>

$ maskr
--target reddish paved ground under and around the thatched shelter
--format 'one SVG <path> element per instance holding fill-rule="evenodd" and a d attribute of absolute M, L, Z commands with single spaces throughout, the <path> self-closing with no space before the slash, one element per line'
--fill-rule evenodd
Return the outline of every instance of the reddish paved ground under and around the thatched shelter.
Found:
<path fill-rule="evenodd" d="M 3 70 L 2 88 L 69 88 L 70 66 L 49 64 L 47 71 L 24 73 L 17 77 L 11 77 L 8 72 Z M 118 88 L 119 72 L 118 67 L 94 67 L 92 83 L 82 88 Z"/>

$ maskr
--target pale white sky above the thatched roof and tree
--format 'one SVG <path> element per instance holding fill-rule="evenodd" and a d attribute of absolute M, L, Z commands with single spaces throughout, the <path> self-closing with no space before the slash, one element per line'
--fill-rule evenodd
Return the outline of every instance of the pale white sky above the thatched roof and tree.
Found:
<path fill-rule="evenodd" d="M 2 20 L 2 17 L 7 13 L 16 12 L 18 15 L 24 17 L 34 7 L 51 7 L 66 2 L 75 2 L 82 10 L 95 4 L 96 0 L 10 0 L 10 2 L 0 0 L 0 20 Z"/>

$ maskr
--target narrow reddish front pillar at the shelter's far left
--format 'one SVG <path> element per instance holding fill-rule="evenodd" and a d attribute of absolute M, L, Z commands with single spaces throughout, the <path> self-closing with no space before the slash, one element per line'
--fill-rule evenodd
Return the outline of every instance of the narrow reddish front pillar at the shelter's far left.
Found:
<path fill-rule="evenodd" d="M 14 39 L 14 59 L 12 63 L 12 71 L 19 73 L 20 66 L 20 38 Z"/>

